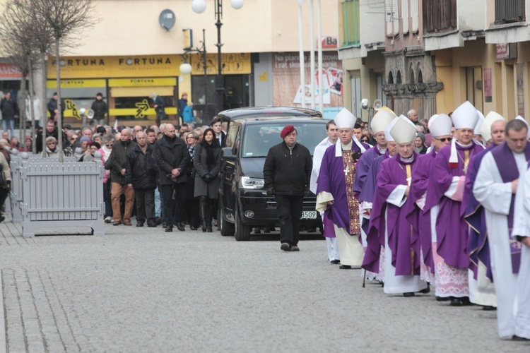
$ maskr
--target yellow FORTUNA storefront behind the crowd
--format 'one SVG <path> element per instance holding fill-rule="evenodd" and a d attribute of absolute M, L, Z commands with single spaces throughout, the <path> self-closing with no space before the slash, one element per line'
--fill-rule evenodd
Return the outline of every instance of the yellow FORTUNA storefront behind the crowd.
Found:
<path fill-rule="evenodd" d="M 249 104 L 249 54 L 223 54 L 223 79 L 225 84 L 225 108 L 244 107 Z M 169 121 L 176 120 L 177 102 L 183 92 L 191 92 L 188 101 L 194 104 L 194 114 L 201 116 L 208 108 L 211 116 L 216 109 L 215 74 L 217 56 L 208 54 L 206 64 L 207 90 L 204 87 L 204 66 L 201 56 L 189 56 L 191 76 L 180 76 L 180 55 L 106 56 L 61 58 L 61 98 L 65 101 L 65 122 L 80 126 L 79 109 L 90 109 L 95 95 L 100 92 L 108 103 L 106 124 L 117 119 L 125 125 L 148 125 L 156 114 L 149 95 L 154 92 L 165 100 L 165 112 Z M 56 61 L 47 66 L 47 100 L 57 91 L 55 79 Z"/>

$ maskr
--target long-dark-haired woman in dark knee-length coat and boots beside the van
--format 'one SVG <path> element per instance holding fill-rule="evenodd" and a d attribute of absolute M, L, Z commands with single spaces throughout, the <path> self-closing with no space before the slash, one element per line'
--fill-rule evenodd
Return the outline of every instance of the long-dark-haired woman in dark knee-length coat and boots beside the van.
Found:
<path fill-rule="evenodd" d="M 201 215 L 202 231 L 211 232 L 213 210 L 219 194 L 220 145 L 213 129 L 204 131 L 203 142 L 195 146 L 195 191 L 199 196 L 199 212 Z"/>

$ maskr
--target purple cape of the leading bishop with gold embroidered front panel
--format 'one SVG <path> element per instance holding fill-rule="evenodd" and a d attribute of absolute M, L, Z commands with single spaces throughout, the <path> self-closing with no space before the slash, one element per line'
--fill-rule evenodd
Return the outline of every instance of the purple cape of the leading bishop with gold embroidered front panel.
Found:
<path fill-rule="evenodd" d="M 335 145 L 329 146 L 324 152 L 324 157 L 322 157 L 317 195 L 322 191 L 331 193 L 334 203 L 327 206 L 326 216 L 334 225 L 339 228 L 346 228 L 348 234 L 351 234 L 346 178 L 342 172 L 344 170 L 343 156 L 335 157 L 335 148 Z M 360 148 L 355 143 L 352 144 L 351 148 L 354 152 L 360 153 Z"/>

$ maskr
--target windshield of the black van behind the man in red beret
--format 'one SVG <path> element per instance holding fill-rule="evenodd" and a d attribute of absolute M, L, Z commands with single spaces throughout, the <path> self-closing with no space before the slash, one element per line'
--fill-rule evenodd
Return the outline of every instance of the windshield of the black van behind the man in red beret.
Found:
<path fill-rule="evenodd" d="M 264 123 L 247 125 L 245 138 L 243 142 L 242 157 L 255 158 L 266 157 L 269 148 L 281 143 L 280 133 L 285 123 L 278 124 Z M 292 124 L 297 131 L 296 143 L 300 143 L 310 150 L 311 154 L 314 148 L 326 138 L 326 121 L 314 121 L 304 124 Z"/>

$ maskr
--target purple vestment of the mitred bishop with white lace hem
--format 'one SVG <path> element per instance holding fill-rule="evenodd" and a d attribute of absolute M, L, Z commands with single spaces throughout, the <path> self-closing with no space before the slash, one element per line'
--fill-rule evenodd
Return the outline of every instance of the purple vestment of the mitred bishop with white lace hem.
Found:
<path fill-rule="evenodd" d="M 456 268 L 468 268 L 469 256 L 467 251 L 469 232 L 468 225 L 461 217 L 461 201 L 454 201 L 444 195 L 453 183 L 453 177 L 464 176 L 465 151 L 468 151 L 469 160 L 473 155 L 483 151 L 481 145 L 471 143 L 469 147 L 456 144 L 458 163 L 449 167 L 451 145 L 442 148 L 435 157 L 430 171 L 427 197 L 424 212 L 440 204 L 436 220 L 437 253 L 447 265 Z M 468 162 L 469 163 L 469 162 Z M 468 164 L 469 165 L 469 164 Z"/>

